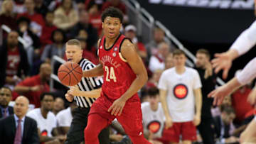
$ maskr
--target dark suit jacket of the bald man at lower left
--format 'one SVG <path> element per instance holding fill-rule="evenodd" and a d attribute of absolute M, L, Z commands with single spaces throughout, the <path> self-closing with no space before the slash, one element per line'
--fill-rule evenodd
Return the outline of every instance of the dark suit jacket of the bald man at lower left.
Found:
<path fill-rule="evenodd" d="M 0 143 L 14 143 L 16 123 L 14 115 L 0 120 Z M 25 117 L 22 144 L 39 144 L 38 128 L 36 121 Z"/>

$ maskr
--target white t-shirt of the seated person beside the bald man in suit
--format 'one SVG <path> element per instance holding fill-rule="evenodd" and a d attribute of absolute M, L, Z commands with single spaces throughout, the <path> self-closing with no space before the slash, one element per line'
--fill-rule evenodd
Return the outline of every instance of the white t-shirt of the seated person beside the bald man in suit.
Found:
<path fill-rule="evenodd" d="M 40 108 L 33 109 L 27 113 L 27 116 L 36 120 L 40 132 L 47 133 L 47 136 L 52 137 L 53 128 L 56 128 L 57 121 L 52 112 L 47 113 L 47 118 L 43 118 Z"/>

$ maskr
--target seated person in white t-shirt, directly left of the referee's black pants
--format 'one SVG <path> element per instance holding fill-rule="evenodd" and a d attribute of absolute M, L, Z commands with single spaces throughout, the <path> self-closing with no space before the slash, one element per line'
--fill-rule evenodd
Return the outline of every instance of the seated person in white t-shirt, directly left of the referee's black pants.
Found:
<path fill-rule="evenodd" d="M 70 103 L 70 106 L 67 109 L 63 109 L 60 111 L 57 116 L 57 126 L 60 130 L 60 132 L 64 135 L 68 133 L 68 130 L 71 126 L 71 122 L 73 119 L 73 110 L 76 108 L 75 101 Z"/>

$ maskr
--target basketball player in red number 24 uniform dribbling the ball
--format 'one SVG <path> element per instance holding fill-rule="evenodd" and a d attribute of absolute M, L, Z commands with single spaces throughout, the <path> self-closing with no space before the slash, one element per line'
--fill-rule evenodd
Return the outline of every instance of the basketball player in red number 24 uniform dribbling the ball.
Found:
<path fill-rule="evenodd" d="M 148 144 L 144 138 L 142 110 L 137 91 L 147 81 L 142 59 L 135 46 L 119 33 L 123 15 L 110 7 L 102 13 L 104 36 L 98 41 L 100 65 L 83 72 L 84 77 L 102 76 L 102 92 L 90 109 L 85 143 L 99 143 L 97 135 L 117 118 L 134 144 Z"/>

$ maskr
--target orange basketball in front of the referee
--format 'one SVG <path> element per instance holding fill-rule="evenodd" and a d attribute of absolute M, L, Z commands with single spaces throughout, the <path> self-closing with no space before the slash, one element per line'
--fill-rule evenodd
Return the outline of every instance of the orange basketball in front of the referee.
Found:
<path fill-rule="evenodd" d="M 75 62 L 65 62 L 58 69 L 58 78 L 66 86 L 74 86 L 82 79 L 82 68 Z"/>

